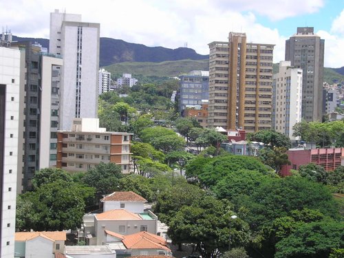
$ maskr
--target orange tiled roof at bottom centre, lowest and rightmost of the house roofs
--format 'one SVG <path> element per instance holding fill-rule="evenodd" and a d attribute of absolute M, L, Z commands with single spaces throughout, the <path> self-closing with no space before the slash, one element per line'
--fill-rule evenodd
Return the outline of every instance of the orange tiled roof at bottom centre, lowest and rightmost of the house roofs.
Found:
<path fill-rule="evenodd" d="M 171 252 L 171 249 L 167 248 L 166 240 L 158 235 L 141 231 L 123 237 L 122 242 L 128 249 L 163 249 Z"/>

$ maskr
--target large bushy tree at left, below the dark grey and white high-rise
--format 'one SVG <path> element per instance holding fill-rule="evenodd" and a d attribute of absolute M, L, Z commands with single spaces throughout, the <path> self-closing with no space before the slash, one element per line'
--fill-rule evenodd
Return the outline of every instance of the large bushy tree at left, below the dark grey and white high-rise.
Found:
<path fill-rule="evenodd" d="M 80 227 L 83 222 L 85 202 L 78 187 L 79 185 L 75 183 L 56 180 L 43 184 L 34 192 L 21 195 L 18 210 L 25 211 L 25 206 L 20 206 L 21 204 L 30 208 L 27 214 L 17 215 L 17 221 L 23 222 L 21 228 L 55 231 Z"/>

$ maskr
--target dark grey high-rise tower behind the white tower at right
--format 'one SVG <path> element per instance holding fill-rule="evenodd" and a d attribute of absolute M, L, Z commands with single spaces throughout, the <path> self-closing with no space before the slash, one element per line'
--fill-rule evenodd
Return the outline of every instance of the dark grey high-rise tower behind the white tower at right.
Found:
<path fill-rule="evenodd" d="M 303 71 L 301 114 L 308 122 L 323 116 L 324 45 L 313 27 L 297 28 L 297 34 L 286 40 L 286 61 Z"/>

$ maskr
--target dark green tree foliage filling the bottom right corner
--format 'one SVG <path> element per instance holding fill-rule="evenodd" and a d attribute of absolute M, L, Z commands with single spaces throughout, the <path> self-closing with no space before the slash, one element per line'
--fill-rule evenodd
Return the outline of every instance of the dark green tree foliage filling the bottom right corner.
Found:
<path fill-rule="evenodd" d="M 301 224 L 293 233 L 276 244 L 275 257 L 329 257 L 333 248 L 343 248 L 343 239 L 343 222 Z"/>

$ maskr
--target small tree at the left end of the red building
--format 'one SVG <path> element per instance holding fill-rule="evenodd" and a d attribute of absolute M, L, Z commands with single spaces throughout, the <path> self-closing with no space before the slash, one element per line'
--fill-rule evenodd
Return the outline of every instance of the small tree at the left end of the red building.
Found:
<path fill-rule="evenodd" d="M 285 147 L 264 148 L 259 151 L 258 157 L 261 162 L 272 167 L 279 174 L 283 165 L 290 164 L 287 151 Z"/>

